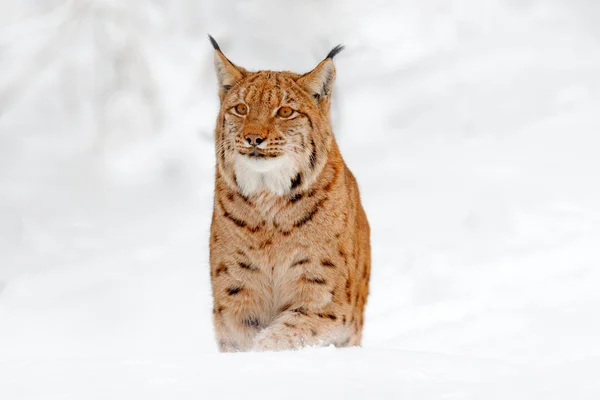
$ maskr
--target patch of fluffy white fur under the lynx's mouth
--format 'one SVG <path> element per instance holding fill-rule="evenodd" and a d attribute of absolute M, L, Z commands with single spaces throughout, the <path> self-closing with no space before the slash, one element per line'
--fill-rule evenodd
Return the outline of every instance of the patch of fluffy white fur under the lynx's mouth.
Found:
<path fill-rule="evenodd" d="M 281 196 L 290 190 L 292 177 L 297 173 L 294 165 L 294 160 L 287 154 L 261 159 L 238 154 L 234 169 L 244 196 L 251 196 L 261 190 Z"/>

